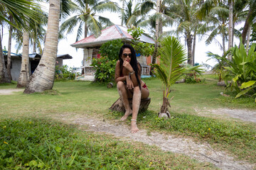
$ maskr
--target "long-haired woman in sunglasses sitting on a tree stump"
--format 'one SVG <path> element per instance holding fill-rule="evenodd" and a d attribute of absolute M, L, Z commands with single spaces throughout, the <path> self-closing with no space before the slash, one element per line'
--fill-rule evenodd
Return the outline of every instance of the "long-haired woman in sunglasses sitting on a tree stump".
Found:
<path fill-rule="evenodd" d="M 147 89 L 144 81 L 141 80 L 141 71 L 142 67 L 137 62 L 134 48 L 131 45 L 123 45 L 115 67 L 114 79 L 117 82 L 117 91 L 125 108 L 125 113 L 121 120 L 126 120 L 132 114 L 132 133 L 139 131 L 137 128 L 137 115 L 141 99 L 149 97 L 149 89 Z M 132 109 L 129 107 L 128 98 L 132 98 Z"/>

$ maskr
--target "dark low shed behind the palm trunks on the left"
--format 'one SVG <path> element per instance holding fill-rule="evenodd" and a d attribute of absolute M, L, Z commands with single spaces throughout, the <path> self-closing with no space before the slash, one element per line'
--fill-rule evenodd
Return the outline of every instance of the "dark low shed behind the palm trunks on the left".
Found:
<path fill-rule="evenodd" d="M 3 51 L 7 54 L 6 51 Z M 7 55 L 4 55 L 4 61 L 7 65 Z M 21 57 L 22 55 L 17 55 L 15 53 L 11 53 L 11 78 L 14 81 L 18 81 L 18 76 L 21 72 Z M 33 53 L 28 55 L 29 57 L 29 75 L 33 74 L 33 72 L 36 70 L 36 67 L 38 66 L 41 55 L 37 53 Z M 70 55 L 57 55 L 56 65 L 62 67 L 63 66 L 63 60 L 65 59 L 72 59 L 73 57 Z"/>

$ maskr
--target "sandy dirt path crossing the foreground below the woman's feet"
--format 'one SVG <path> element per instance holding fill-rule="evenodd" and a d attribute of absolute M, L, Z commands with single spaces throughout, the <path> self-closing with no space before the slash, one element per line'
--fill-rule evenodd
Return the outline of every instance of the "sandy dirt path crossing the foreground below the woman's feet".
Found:
<path fill-rule="evenodd" d="M 62 120 L 76 125 L 86 125 L 92 132 L 105 132 L 117 137 L 120 140 L 144 142 L 148 145 L 156 145 L 164 151 L 186 154 L 201 162 L 211 162 L 220 169 L 253 169 L 255 164 L 235 161 L 227 153 L 213 149 L 208 143 L 194 142 L 188 137 L 174 135 L 163 135 L 158 132 L 147 134 L 146 130 L 140 130 L 136 134 L 130 132 L 130 128 L 119 120 L 99 120 L 81 115 L 62 115 Z M 139 123 L 138 123 L 139 124 Z"/>

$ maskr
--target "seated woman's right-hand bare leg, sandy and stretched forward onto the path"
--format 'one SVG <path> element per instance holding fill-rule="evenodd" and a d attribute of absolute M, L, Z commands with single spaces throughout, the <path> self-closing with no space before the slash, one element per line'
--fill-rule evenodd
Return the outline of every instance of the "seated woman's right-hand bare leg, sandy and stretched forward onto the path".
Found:
<path fill-rule="evenodd" d="M 140 91 L 139 86 L 134 87 L 134 94 L 132 97 L 132 121 L 131 121 L 132 133 L 137 133 L 139 131 L 139 128 L 137 128 L 137 115 L 139 112 L 141 98 L 142 98 L 142 91 Z"/>

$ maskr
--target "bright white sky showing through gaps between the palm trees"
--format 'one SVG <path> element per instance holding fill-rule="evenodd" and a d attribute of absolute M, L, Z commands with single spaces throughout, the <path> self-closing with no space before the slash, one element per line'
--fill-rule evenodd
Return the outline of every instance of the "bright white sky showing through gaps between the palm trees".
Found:
<path fill-rule="evenodd" d="M 119 3 L 118 0 L 114 0 L 115 2 Z M 122 4 L 119 3 L 120 6 Z M 46 10 L 48 8 L 48 4 L 45 5 Z M 104 12 L 100 13 L 101 16 L 105 16 L 107 18 L 110 18 L 110 21 L 112 23 L 121 25 L 121 19 L 119 18 L 119 13 L 110 13 L 110 12 Z M 242 25 L 236 26 L 236 28 L 241 28 Z M 164 28 L 164 30 L 170 30 L 171 28 Z M 58 55 L 65 55 L 69 54 L 73 57 L 72 60 L 63 60 L 63 64 L 67 64 L 68 67 L 81 67 L 82 66 L 82 57 L 83 57 L 83 52 L 82 49 L 76 50 L 75 47 L 71 47 L 70 45 L 75 43 L 76 39 L 76 33 L 77 33 L 78 27 L 75 28 L 72 34 L 66 35 L 64 40 L 60 40 L 58 43 Z M 2 45 L 3 48 L 6 46 L 6 49 L 8 47 L 8 37 L 9 33 L 7 29 L 4 29 L 4 36 L 3 36 L 3 41 Z M 206 45 L 205 43 L 206 38 L 202 38 L 201 40 L 196 41 L 196 55 L 195 55 L 195 63 L 198 62 L 199 64 L 205 63 L 205 64 L 210 64 L 214 65 L 216 62 L 214 60 L 208 60 L 208 57 L 206 57 L 206 52 L 210 51 L 218 55 L 222 55 L 222 51 L 220 50 L 220 47 L 218 47 L 215 42 L 212 42 L 210 45 Z M 218 38 L 218 40 L 221 42 L 221 38 Z M 184 45 L 184 39 L 181 38 L 181 43 Z M 234 45 L 238 45 L 239 40 L 238 38 L 235 38 L 234 40 Z M 185 46 L 186 47 L 186 46 Z M 226 47 L 228 47 L 228 42 L 226 44 Z M 15 48 L 15 40 L 12 41 L 12 47 L 11 47 L 11 52 L 16 52 Z M 19 52 L 22 52 L 19 51 Z M 32 47 L 30 48 L 30 52 L 32 53 Z M 207 61 L 208 60 L 208 61 Z"/>

